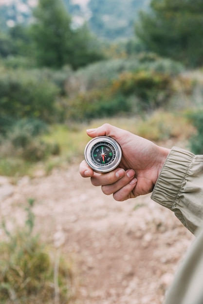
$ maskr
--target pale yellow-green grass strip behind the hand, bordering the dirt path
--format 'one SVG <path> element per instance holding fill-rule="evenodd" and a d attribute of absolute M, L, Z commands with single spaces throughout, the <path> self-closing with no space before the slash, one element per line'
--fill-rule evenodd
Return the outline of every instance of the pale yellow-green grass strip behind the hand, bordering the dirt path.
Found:
<path fill-rule="evenodd" d="M 134 134 L 143 136 L 159 143 L 170 138 L 187 140 L 194 132 L 194 128 L 184 113 L 155 111 L 145 117 L 117 117 L 92 120 L 89 124 L 52 125 L 48 134 L 42 135 L 43 142 L 57 145 L 59 153 L 50 155 L 40 162 L 27 162 L 19 157 L 1 157 L 0 175 L 6 176 L 35 176 L 38 169 L 45 174 L 55 167 L 67 168 L 69 164 L 79 163 L 83 159 L 84 148 L 90 137 L 86 129 L 96 128 L 104 123 L 110 123 L 126 129 Z"/>

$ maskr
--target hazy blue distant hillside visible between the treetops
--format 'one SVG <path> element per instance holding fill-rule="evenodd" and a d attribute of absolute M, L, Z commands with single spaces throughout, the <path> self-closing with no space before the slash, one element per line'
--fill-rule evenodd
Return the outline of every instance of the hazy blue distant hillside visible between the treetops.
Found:
<path fill-rule="evenodd" d="M 73 26 L 87 22 L 98 37 L 117 39 L 134 33 L 134 22 L 141 9 L 148 7 L 149 0 L 63 0 L 73 18 Z M 0 0 L 0 28 L 16 23 L 32 21 L 32 9 L 37 0 Z"/>

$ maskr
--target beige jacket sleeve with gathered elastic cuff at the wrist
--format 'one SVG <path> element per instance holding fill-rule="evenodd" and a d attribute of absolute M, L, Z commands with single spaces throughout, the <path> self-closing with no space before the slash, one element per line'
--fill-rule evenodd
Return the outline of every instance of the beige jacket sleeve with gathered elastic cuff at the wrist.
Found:
<path fill-rule="evenodd" d="M 172 210 L 194 234 L 203 225 L 203 155 L 173 147 L 151 199 Z"/>

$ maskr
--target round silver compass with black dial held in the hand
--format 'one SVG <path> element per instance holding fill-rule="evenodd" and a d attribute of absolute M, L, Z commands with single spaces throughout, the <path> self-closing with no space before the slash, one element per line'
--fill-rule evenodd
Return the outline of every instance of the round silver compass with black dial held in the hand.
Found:
<path fill-rule="evenodd" d="M 106 173 L 115 169 L 122 157 L 121 147 L 111 137 L 98 136 L 85 147 L 85 161 L 98 173 Z"/>

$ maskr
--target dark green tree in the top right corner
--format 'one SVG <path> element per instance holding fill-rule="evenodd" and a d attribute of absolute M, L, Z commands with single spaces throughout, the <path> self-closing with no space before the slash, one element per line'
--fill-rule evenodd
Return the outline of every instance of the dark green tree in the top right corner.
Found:
<path fill-rule="evenodd" d="M 150 51 L 190 67 L 203 64 L 203 1 L 152 0 L 140 13 L 136 35 Z"/>

